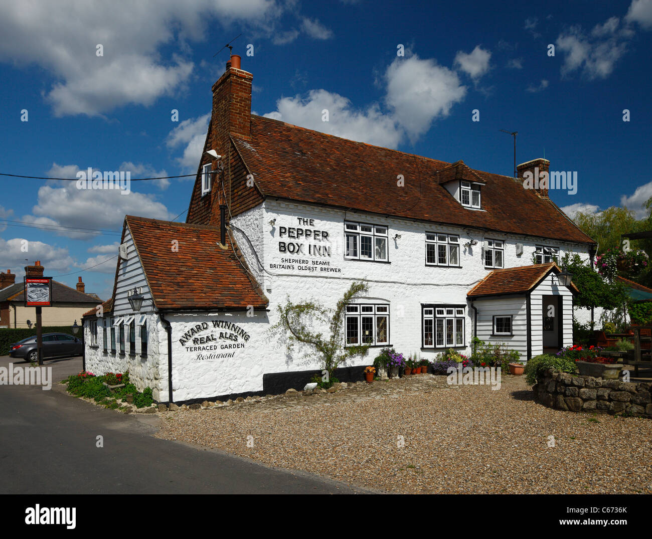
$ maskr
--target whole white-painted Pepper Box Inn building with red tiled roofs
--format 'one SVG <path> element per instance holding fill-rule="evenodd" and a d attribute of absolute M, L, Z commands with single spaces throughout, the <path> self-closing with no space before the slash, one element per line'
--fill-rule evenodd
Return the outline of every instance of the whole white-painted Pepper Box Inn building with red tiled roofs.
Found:
<path fill-rule="evenodd" d="M 527 360 L 572 343 L 574 285 L 555 262 L 595 242 L 518 179 L 252 115 L 252 74 L 231 57 L 186 223 L 126 216 L 113 296 L 84 318 L 86 365 L 130 371 L 158 401 L 303 386 L 320 368 L 269 333 L 277 307 L 333 307 L 352 282 L 343 345 L 434 359 L 472 337 Z M 550 308 L 552 307 L 552 309 Z M 323 328 L 326 330 L 327 328 Z"/>

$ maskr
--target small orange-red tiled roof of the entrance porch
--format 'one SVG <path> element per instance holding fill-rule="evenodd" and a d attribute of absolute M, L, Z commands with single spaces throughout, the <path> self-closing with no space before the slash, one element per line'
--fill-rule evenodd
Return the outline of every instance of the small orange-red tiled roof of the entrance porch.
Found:
<path fill-rule="evenodd" d="M 554 262 L 493 270 L 475 285 L 467 293 L 467 296 L 479 297 L 526 293 L 539 284 L 550 270 L 556 273 L 561 271 Z M 578 292 L 577 287 L 572 282 L 571 289 Z"/>

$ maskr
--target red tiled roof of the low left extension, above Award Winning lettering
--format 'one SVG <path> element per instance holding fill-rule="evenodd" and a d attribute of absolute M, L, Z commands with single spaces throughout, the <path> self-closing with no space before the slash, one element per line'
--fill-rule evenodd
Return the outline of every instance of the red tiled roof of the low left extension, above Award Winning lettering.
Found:
<path fill-rule="evenodd" d="M 268 300 L 248 273 L 237 245 L 218 246 L 220 229 L 126 216 L 156 308 L 265 308 Z M 172 240 L 179 251 L 171 252 Z"/>

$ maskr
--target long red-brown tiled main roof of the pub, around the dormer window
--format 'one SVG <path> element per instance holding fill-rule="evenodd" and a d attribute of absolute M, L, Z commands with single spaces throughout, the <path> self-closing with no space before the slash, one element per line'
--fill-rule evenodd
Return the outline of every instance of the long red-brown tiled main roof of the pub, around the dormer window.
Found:
<path fill-rule="evenodd" d="M 231 137 L 263 196 L 594 244 L 550 199 L 511 177 L 372 146 L 251 116 L 251 141 Z M 438 172 L 441 171 L 442 177 Z M 398 186 L 399 175 L 404 186 Z M 466 209 L 441 184 L 485 182 L 482 209 Z"/>

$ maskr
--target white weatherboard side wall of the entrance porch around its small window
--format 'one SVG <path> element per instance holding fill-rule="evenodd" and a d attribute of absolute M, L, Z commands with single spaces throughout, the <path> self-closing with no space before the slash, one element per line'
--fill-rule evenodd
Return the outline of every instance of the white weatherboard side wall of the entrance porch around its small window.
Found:
<path fill-rule="evenodd" d="M 505 297 L 477 299 L 473 303 L 478 310 L 477 337 L 489 343 L 505 343 L 517 350 L 522 360 L 527 360 L 527 305 L 526 298 Z M 473 310 L 471 310 L 473 316 Z M 494 316 L 512 317 L 512 335 L 494 335 Z"/>

